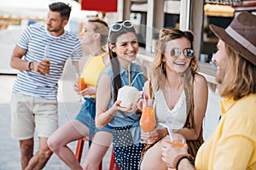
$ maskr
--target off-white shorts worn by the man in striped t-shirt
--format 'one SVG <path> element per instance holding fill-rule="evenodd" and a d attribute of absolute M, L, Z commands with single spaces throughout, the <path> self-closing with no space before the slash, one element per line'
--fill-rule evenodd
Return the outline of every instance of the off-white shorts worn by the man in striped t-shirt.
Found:
<path fill-rule="evenodd" d="M 13 93 L 10 100 L 12 135 L 31 139 L 37 128 L 38 137 L 48 138 L 58 127 L 58 105 L 55 99 Z"/>

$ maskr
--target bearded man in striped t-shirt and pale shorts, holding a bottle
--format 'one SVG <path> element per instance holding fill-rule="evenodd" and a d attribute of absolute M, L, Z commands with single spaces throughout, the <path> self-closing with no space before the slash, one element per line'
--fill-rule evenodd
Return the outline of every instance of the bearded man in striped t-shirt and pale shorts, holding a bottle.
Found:
<path fill-rule="evenodd" d="M 58 81 L 68 57 L 78 67 L 82 56 L 79 39 L 64 30 L 71 7 L 49 4 L 46 25 L 28 26 L 20 35 L 10 65 L 20 70 L 11 97 L 12 134 L 20 141 L 22 169 L 42 169 L 52 151 L 47 139 L 58 127 Z M 49 62 L 44 62 L 48 55 Z M 33 156 L 37 127 L 39 147 Z"/>

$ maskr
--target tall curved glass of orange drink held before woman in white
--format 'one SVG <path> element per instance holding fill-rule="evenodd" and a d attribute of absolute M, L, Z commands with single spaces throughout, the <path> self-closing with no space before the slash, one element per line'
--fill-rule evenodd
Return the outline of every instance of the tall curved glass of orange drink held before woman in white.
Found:
<path fill-rule="evenodd" d="M 154 131 L 155 124 L 154 99 L 143 99 L 143 114 L 140 119 L 143 133 Z M 144 142 L 148 143 L 147 141 Z"/>

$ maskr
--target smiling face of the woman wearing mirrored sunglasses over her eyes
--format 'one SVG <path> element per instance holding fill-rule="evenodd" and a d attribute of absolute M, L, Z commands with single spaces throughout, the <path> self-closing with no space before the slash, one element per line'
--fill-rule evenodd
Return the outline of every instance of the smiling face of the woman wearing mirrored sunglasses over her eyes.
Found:
<path fill-rule="evenodd" d="M 173 48 L 179 48 L 181 50 L 181 53 L 177 58 L 172 56 L 171 51 Z M 166 71 L 175 71 L 177 73 L 186 71 L 191 59 L 183 54 L 183 50 L 188 48 L 191 48 L 191 43 L 185 37 L 166 42 L 165 56 L 163 58 L 163 61 L 166 62 Z"/>

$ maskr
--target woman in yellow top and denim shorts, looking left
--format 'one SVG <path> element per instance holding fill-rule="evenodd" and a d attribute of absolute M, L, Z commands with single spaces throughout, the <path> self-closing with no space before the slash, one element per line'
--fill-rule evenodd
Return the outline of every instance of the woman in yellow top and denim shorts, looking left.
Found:
<path fill-rule="evenodd" d="M 84 29 L 80 34 L 80 42 L 92 54 L 86 61 L 81 74 L 84 77 L 87 88 L 79 91 L 79 84 L 75 83 L 74 85 L 77 93 L 84 96 L 84 105 L 82 105 L 75 120 L 67 122 L 67 124 L 57 129 L 49 137 L 48 144 L 49 148 L 70 169 L 97 169 L 112 141 L 111 127 L 107 125 L 102 129 L 98 129 L 95 126 L 97 79 L 109 63 L 108 52 L 103 48 L 108 42 L 108 24 L 98 18 L 88 20 L 84 24 Z M 93 134 L 95 135 L 92 139 Z M 89 136 L 92 143 L 85 157 L 84 164 L 81 166 L 67 144 L 78 139 L 83 139 L 86 136 Z"/>

